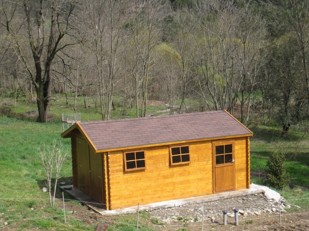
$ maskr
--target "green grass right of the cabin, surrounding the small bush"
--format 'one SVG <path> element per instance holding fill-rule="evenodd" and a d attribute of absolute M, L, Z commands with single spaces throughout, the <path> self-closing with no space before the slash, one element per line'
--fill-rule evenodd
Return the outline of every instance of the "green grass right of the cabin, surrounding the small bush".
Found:
<path fill-rule="evenodd" d="M 258 185 L 269 185 L 267 181 L 267 160 L 270 153 L 280 150 L 285 153 L 287 172 L 291 177 L 290 187 L 277 190 L 292 205 L 291 211 L 309 209 L 309 135 L 308 124 L 292 127 L 289 134 L 283 136 L 281 128 L 257 126 L 250 128 L 254 132 L 251 139 L 251 172 L 256 173 L 251 180 Z M 257 175 L 260 174 L 260 177 Z M 274 188 L 273 188 L 274 189 Z"/>

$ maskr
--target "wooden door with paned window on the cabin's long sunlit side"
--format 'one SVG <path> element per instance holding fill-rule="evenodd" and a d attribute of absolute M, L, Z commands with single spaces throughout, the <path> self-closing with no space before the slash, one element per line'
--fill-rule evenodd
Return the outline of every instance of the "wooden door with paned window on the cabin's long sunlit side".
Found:
<path fill-rule="evenodd" d="M 213 193 L 235 190 L 235 142 L 212 143 Z"/>

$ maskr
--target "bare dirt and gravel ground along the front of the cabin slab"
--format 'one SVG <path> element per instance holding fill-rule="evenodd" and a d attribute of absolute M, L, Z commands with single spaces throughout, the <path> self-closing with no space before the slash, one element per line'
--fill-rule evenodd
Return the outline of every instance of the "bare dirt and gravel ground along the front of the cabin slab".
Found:
<path fill-rule="evenodd" d="M 120 218 L 135 218 L 136 214 L 126 214 L 120 216 L 102 216 L 89 211 L 85 206 L 70 204 L 68 209 L 75 211 L 72 216 L 88 219 L 97 219 L 113 225 L 119 222 Z M 235 226 L 234 208 L 238 208 L 239 226 Z M 302 210 L 297 213 L 288 213 L 291 208 L 286 201 L 281 204 L 281 225 L 279 218 L 278 203 L 268 200 L 264 194 L 254 194 L 230 199 L 206 202 L 204 204 L 191 204 L 180 207 L 146 210 L 149 213 L 145 225 L 158 231 L 170 231 L 184 229 L 188 231 L 201 231 L 204 223 L 204 230 L 309 230 L 308 211 Z M 203 217 L 204 210 L 204 219 Z M 222 210 L 228 211 L 227 226 L 222 224 Z M 204 221 L 202 221 L 204 220 Z M 93 220 L 85 221 L 88 224 L 96 223 Z"/>

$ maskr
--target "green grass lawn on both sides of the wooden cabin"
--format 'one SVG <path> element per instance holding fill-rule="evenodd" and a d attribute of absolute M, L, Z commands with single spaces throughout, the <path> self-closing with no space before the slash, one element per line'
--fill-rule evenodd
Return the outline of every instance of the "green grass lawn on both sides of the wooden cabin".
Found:
<path fill-rule="evenodd" d="M 100 109 L 95 108 L 92 99 L 89 99 L 90 107 L 85 108 L 83 99 L 78 100 L 77 113 L 81 113 L 82 121 L 100 120 Z M 135 117 L 135 108 L 126 108 L 126 115 L 120 115 L 122 99 L 116 98 L 116 111 L 112 118 Z M 5 101 L 9 101 L 6 99 Z M 0 219 L 19 220 L 25 218 L 39 218 L 59 216 L 49 219 L 25 220 L 15 222 L 18 230 L 47 229 L 47 230 L 94 230 L 93 224 L 87 224 L 81 220 L 69 219 L 64 225 L 63 212 L 60 208 L 48 206 L 48 195 L 42 192 L 44 184 L 44 172 L 41 160 L 37 154 L 37 147 L 51 144 L 53 139 L 61 140 L 63 148 L 70 151 L 70 139 L 62 139 L 61 113 L 73 114 L 72 101 L 65 104 L 63 96 L 57 96 L 52 101 L 50 115 L 54 122 L 40 124 L 30 121 L 21 121 L 14 118 L 0 116 Z M 19 101 L 16 106 L 10 106 L 16 113 L 37 110 L 36 103 Z M 164 104 L 152 105 L 149 112 L 165 110 Z M 251 139 L 251 171 L 257 173 L 252 177 L 253 183 L 268 185 L 266 178 L 266 162 L 272 150 L 283 150 L 286 153 L 286 165 L 292 178 L 291 188 L 286 187 L 279 191 L 286 199 L 291 200 L 292 205 L 298 205 L 302 209 L 309 209 L 309 131 L 308 124 L 302 127 L 293 127 L 290 133 L 282 136 L 280 129 L 264 126 L 250 127 L 254 132 Z M 62 180 L 70 179 L 72 173 L 70 155 L 62 167 Z M 257 175 L 260 174 L 260 177 Z M 2 198 L 34 198 L 26 200 L 2 199 Z M 297 199 L 297 200 L 294 200 Z M 299 208 L 292 206 L 298 211 Z M 150 218 L 143 215 L 141 222 L 147 223 Z M 135 224 L 136 215 L 115 217 L 119 222 Z M 144 220 L 143 220 L 144 219 Z M 13 222 L 10 222 L 13 223 Z M 1 223 L 0 223 L 1 228 Z M 133 226 L 114 225 L 112 230 L 134 230 Z M 144 230 L 150 230 L 145 227 Z"/>

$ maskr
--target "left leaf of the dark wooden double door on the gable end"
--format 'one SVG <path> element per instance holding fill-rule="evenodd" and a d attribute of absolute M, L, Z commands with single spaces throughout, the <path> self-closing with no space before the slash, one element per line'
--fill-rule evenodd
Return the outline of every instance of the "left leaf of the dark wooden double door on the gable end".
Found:
<path fill-rule="evenodd" d="M 90 191 L 90 168 L 89 168 L 89 145 L 85 139 L 76 138 L 77 152 L 77 187 L 86 195 L 91 196 Z"/>

